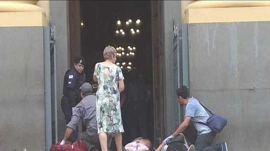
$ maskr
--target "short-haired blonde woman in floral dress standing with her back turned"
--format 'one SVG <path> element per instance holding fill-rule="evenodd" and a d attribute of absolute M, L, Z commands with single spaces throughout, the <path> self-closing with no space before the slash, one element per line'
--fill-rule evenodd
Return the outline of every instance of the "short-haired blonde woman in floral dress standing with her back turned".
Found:
<path fill-rule="evenodd" d="M 102 151 L 107 151 L 107 134 L 115 134 L 117 151 L 122 151 L 122 132 L 124 132 L 121 110 L 120 93 L 124 90 L 122 70 L 115 64 L 116 49 L 105 47 L 105 61 L 95 64 L 94 81 L 98 82 L 96 92 L 97 127 Z"/>

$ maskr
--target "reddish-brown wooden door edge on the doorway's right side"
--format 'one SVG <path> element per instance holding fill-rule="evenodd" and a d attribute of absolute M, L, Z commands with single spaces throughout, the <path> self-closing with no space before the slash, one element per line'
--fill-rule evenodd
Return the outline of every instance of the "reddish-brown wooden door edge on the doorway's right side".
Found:
<path fill-rule="evenodd" d="M 164 1 L 151 1 L 153 90 L 154 90 L 154 145 L 165 137 L 165 46 L 164 46 Z"/>

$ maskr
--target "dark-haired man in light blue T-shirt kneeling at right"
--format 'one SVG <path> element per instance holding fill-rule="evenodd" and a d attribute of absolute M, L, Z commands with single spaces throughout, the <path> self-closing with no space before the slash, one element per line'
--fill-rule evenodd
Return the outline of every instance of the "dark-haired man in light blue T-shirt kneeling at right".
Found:
<path fill-rule="evenodd" d="M 197 140 L 195 143 L 196 151 L 228 151 L 226 142 L 218 143 L 213 147 L 211 146 L 216 133 L 213 132 L 208 126 L 199 123 L 206 123 L 209 115 L 196 98 L 190 97 L 188 88 L 186 86 L 181 86 L 178 88 L 176 94 L 178 102 L 182 105 L 186 105 L 185 118 L 177 130 L 163 140 L 163 143 L 167 143 L 178 134 L 184 132 L 192 121 L 198 131 Z"/>

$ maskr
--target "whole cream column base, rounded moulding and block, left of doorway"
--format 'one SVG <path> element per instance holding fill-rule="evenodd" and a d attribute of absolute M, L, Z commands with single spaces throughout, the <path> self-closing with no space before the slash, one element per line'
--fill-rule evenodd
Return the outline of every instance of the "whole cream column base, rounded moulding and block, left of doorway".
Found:
<path fill-rule="evenodd" d="M 0 1 L 0 26 L 49 25 L 49 1 Z"/>

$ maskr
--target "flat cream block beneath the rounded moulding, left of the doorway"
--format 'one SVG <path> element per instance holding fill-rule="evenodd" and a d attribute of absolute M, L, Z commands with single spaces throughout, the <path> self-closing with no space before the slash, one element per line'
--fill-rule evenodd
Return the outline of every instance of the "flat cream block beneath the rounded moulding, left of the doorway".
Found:
<path fill-rule="evenodd" d="M 0 12 L 0 27 L 46 26 L 45 15 L 40 12 Z"/>

